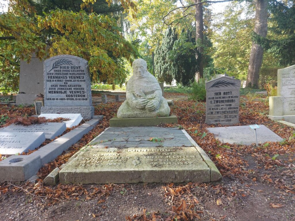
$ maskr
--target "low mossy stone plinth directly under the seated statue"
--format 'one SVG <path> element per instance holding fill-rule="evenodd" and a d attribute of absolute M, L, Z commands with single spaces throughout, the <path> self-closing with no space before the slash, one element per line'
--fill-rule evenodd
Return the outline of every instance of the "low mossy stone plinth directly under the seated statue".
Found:
<path fill-rule="evenodd" d="M 177 117 L 117 118 L 110 119 L 110 127 L 156 126 L 165 123 L 177 123 Z"/>

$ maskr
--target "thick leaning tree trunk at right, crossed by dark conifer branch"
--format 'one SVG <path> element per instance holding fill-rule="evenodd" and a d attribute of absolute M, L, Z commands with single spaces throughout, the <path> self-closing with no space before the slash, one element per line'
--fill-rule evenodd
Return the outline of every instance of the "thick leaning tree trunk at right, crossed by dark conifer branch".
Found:
<path fill-rule="evenodd" d="M 254 32 L 262 37 L 267 34 L 267 0 L 255 1 Z M 258 88 L 259 71 L 262 65 L 263 47 L 252 42 L 246 87 Z"/>

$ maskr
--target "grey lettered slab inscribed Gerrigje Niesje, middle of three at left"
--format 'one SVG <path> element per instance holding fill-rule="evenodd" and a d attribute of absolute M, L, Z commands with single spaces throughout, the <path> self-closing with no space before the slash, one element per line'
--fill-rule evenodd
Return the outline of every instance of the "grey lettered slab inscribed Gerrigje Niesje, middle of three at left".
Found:
<path fill-rule="evenodd" d="M 5 128 L 0 129 L 0 132 L 44 132 L 46 139 L 54 139 L 56 136 L 62 134 L 66 129 L 67 127 L 65 126 L 65 123 L 41 123 L 27 126 L 11 124 Z"/>

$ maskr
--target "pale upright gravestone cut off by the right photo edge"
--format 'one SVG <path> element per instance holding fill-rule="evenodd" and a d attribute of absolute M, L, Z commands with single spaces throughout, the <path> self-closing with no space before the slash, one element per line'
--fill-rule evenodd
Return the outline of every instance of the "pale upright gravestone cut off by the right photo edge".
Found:
<path fill-rule="evenodd" d="M 295 65 L 278 69 L 277 96 L 269 97 L 268 117 L 295 123 Z"/>

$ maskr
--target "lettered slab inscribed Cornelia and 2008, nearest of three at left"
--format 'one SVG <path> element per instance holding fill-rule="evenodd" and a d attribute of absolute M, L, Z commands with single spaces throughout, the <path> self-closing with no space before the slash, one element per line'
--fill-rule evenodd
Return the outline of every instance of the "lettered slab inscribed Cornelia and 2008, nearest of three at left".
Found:
<path fill-rule="evenodd" d="M 19 133 L 0 132 L 0 154 L 14 155 L 35 150 L 45 141 L 45 134 L 42 132 Z"/>

